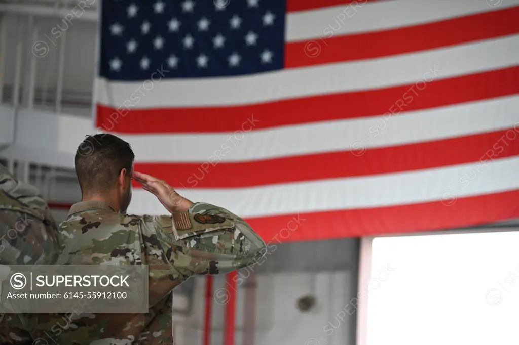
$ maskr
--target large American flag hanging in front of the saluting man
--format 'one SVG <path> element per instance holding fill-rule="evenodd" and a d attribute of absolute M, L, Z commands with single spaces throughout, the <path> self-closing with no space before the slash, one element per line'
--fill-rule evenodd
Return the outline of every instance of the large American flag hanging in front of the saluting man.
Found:
<path fill-rule="evenodd" d="M 518 33 L 519 0 L 103 0 L 96 123 L 265 239 L 516 218 Z"/>

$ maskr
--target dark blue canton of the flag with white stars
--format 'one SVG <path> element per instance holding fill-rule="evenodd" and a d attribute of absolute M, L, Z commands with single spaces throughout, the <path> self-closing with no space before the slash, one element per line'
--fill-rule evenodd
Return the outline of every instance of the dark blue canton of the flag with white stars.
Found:
<path fill-rule="evenodd" d="M 100 76 L 234 76 L 284 65 L 285 0 L 103 0 Z"/>

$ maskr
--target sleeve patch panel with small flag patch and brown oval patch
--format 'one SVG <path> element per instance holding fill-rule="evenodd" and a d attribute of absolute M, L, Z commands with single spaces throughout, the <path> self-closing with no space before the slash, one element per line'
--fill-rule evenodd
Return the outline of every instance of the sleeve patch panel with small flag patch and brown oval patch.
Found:
<path fill-rule="evenodd" d="M 212 237 L 222 231 L 234 232 L 235 223 L 221 215 L 175 212 L 172 232 L 177 240 L 189 237 Z"/>

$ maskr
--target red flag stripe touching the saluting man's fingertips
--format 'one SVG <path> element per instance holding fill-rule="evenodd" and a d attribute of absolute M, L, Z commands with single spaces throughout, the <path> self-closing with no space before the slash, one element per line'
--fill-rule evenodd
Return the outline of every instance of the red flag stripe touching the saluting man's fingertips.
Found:
<path fill-rule="evenodd" d="M 380 127 L 383 125 L 391 126 L 381 122 Z M 152 174 L 175 188 L 243 188 L 390 174 L 516 156 L 519 155 L 519 139 L 515 140 L 518 132 L 519 128 L 511 128 L 402 146 L 253 162 L 219 163 L 214 159 L 211 163 L 135 163 L 135 170 Z M 140 184 L 134 186 L 138 188 Z"/>

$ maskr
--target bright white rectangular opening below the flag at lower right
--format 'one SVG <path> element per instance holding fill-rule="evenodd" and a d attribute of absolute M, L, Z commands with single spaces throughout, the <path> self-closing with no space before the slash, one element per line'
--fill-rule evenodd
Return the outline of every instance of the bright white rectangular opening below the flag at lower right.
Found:
<path fill-rule="evenodd" d="M 358 299 L 358 345 L 516 342 L 519 232 L 364 238 Z"/>

